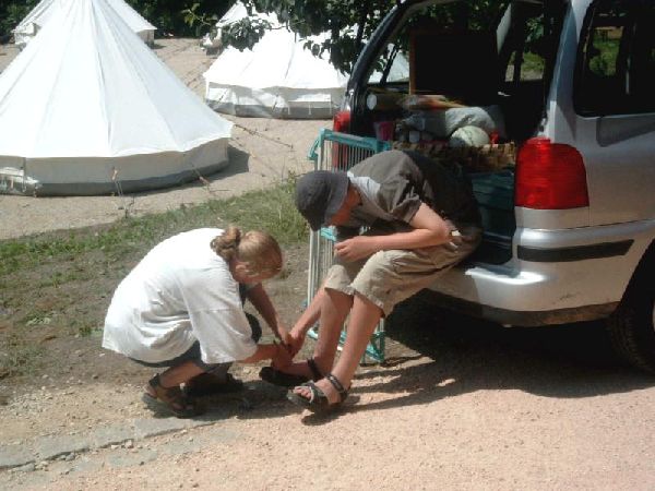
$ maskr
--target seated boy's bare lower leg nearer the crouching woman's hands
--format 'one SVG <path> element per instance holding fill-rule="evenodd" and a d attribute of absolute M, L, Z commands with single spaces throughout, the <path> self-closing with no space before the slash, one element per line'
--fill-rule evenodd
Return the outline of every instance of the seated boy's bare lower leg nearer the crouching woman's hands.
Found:
<path fill-rule="evenodd" d="M 353 297 L 332 288 L 321 288 L 314 300 L 320 302 L 321 314 L 313 358 L 321 373 L 329 373 L 334 362 L 342 327 L 353 306 Z M 312 376 L 305 361 L 291 363 L 283 371 L 294 375 Z"/>

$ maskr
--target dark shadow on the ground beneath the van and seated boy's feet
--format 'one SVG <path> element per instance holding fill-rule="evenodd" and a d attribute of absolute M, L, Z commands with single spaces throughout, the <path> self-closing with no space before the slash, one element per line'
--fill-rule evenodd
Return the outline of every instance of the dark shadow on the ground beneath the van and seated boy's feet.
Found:
<path fill-rule="evenodd" d="M 599 322 L 505 328 L 436 309 L 419 295 L 396 308 L 386 334 L 388 361 L 357 375 L 346 411 L 424 405 L 476 391 L 520 390 L 545 397 L 583 398 L 655 385 L 653 375 L 617 358 Z M 381 376 L 385 382 L 358 383 Z M 397 397 L 357 404 L 369 393 Z M 285 394 L 281 387 L 251 382 L 246 395 L 234 399 L 238 404 L 227 405 L 231 409 L 216 400 L 221 409 L 206 418 L 300 414 L 286 403 Z M 338 415 L 309 415 L 303 422 L 321 424 Z"/>

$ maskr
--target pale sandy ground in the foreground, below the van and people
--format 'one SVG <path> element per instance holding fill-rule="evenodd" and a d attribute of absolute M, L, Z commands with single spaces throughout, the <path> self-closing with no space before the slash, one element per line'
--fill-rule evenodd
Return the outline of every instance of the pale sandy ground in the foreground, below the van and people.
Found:
<path fill-rule="evenodd" d="M 210 426 L 0 472 L 0 487 L 653 489 L 653 380 L 618 363 L 600 333 L 402 311 L 389 362 L 362 367 L 334 416 L 298 410 L 242 366 L 248 391 L 205 402 Z M 85 374 L 70 360 L 74 376 L 44 379 L 0 408 L 4 443 L 150 417 L 139 402 L 146 373 L 84 349 Z"/>

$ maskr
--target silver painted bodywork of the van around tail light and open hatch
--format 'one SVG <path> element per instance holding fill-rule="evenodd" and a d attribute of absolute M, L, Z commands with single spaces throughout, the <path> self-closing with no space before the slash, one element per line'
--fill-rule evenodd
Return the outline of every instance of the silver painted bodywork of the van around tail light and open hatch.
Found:
<path fill-rule="evenodd" d="M 360 98 L 374 60 L 414 10 L 436 3 L 444 2 L 410 0 L 394 7 L 371 37 L 348 83 L 353 133 L 361 134 Z M 507 261 L 490 264 L 474 256 L 430 288 L 440 304 L 505 324 L 543 325 L 610 315 L 655 240 L 655 113 L 576 113 L 579 39 L 594 2 L 565 3 L 552 77 L 541 100 L 543 117 L 531 135 L 580 152 L 590 204 L 572 209 L 514 207 L 513 233 L 485 233 L 487 240 L 507 247 Z M 508 11 L 497 31 L 499 48 L 511 41 L 510 20 Z"/>

